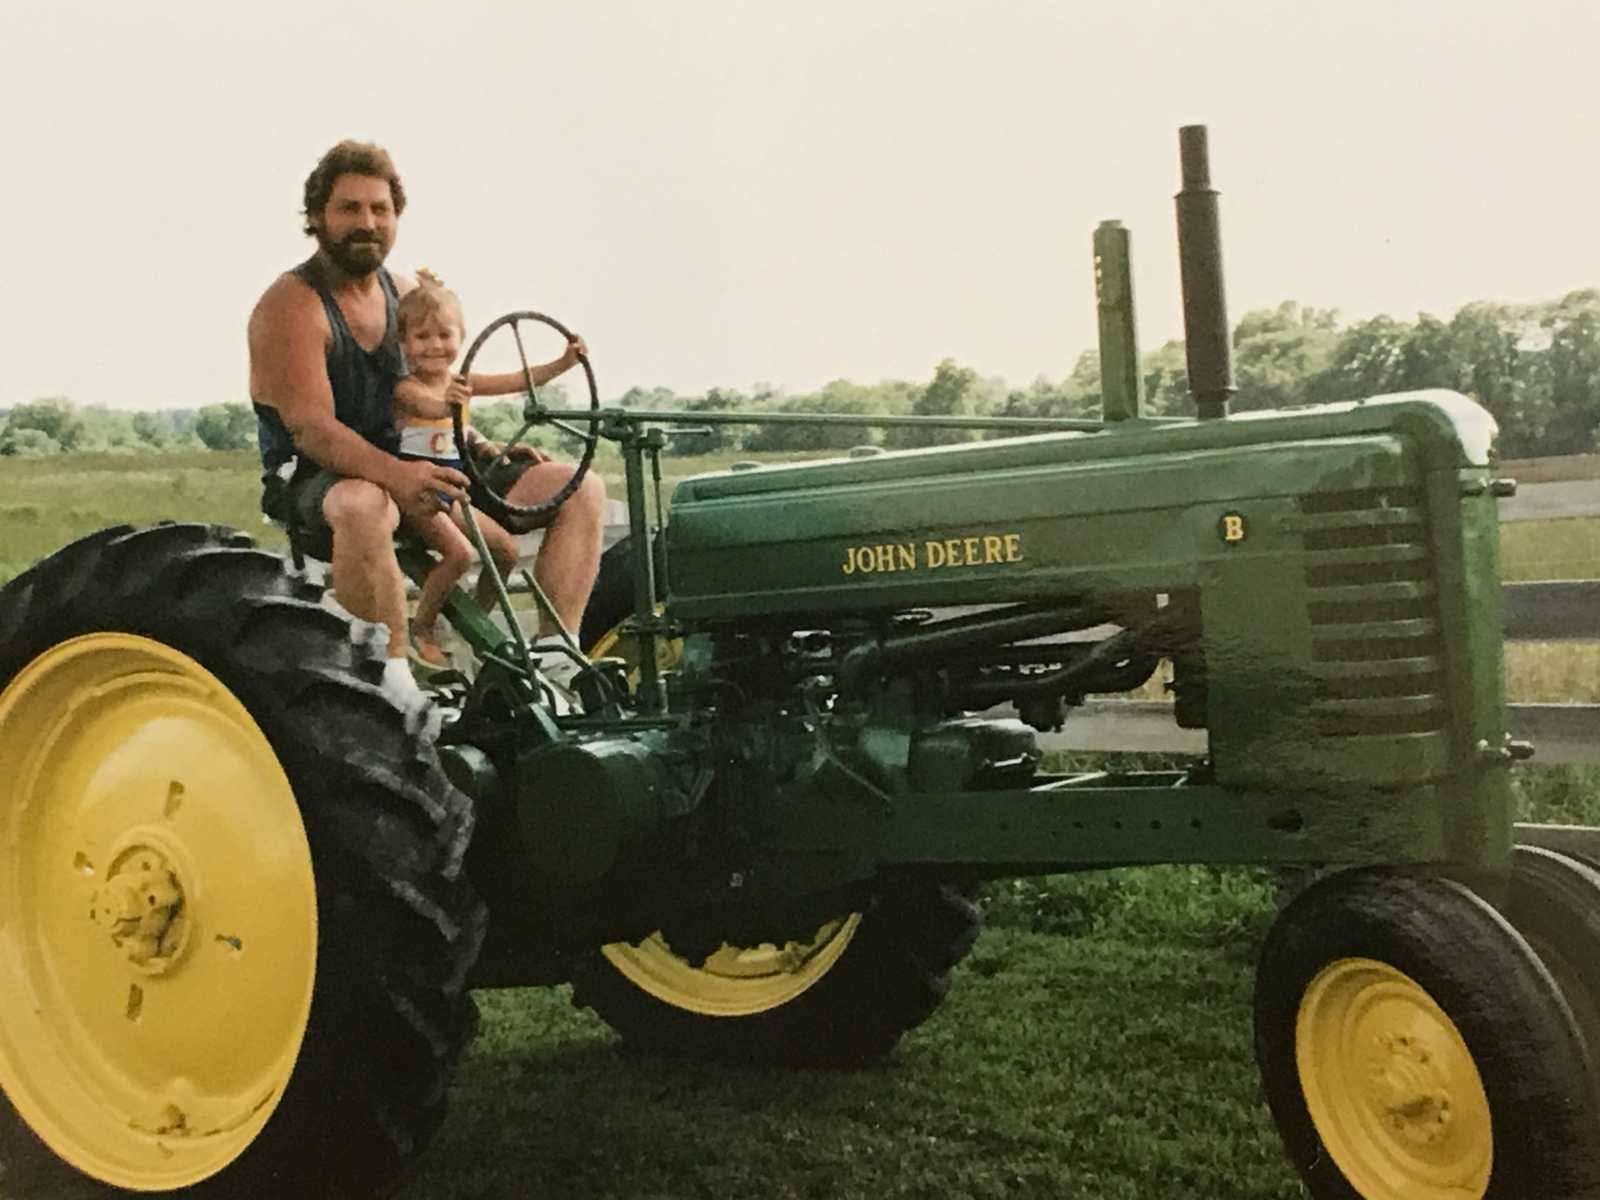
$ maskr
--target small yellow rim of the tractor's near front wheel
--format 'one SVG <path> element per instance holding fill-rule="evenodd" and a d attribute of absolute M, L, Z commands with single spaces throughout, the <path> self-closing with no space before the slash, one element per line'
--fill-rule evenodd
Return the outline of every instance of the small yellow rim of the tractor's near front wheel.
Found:
<path fill-rule="evenodd" d="M 1461 1030 L 1410 976 L 1371 958 L 1323 968 L 1294 1056 L 1312 1123 L 1365 1200 L 1477 1200 L 1493 1165 L 1490 1101 Z"/>

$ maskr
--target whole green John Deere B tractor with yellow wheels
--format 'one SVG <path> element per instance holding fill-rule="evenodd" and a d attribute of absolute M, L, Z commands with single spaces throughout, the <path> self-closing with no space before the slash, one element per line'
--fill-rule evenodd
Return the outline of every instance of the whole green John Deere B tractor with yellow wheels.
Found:
<path fill-rule="evenodd" d="M 1254 1018 L 1312 1195 L 1600 1197 L 1600 874 L 1515 845 L 1494 424 L 1446 392 L 1229 416 L 1182 147 L 1195 418 L 1141 411 L 1115 222 L 1104 421 L 701 475 L 666 523 L 666 430 L 770 414 L 530 398 L 627 470 L 576 704 L 501 586 L 512 621 L 456 595 L 474 666 L 402 712 L 373 629 L 226 528 L 104 530 L 0 589 L 0 1154 L 368 1195 L 438 1126 L 472 989 L 858 1064 L 938 1008 L 984 880 L 1227 862 L 1317 875 Z M 1202 757 L 1045 768 L 1038 731 L 1158 670 Z"/>

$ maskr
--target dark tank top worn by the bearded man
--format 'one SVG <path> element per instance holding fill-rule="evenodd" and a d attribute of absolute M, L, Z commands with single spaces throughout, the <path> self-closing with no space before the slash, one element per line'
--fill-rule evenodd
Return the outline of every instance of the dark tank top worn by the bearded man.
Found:
<path fill-rule="evenodd" d="M 398 437 L 394 427 L 395 381 L 405 374 L 400 357 L 400 336 L 395 326 L 395 306 L 400 296 L 395 282 L 384 267 L 378 269 L 378 285 L 384 290 L 387 309 L 384 339 L 376 350 L 366 352 L 355 341 L 350 326 L 339 310 L 339 302 L 328 291 L 322 275 L 314 267 L 315 259 L 301 262 L 291 272 L 312 286 L 322 298 L 322 310 L 328 315 L 333 339 L 328 342 L 328 384 L 333 387 L 333 414 L 339 424 L 349 426 L 374 446 L 394 453 Z M 294 440 L 290 437 L 278 410 L 256 405 L 256 430 L 261 446 L 261 466 L 274 472 L 294 458 Z"/>

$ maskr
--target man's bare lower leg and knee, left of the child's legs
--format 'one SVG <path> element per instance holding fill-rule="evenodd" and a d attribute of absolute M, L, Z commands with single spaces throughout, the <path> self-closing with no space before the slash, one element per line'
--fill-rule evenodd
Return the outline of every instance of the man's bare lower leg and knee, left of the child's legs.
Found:
<path fill-rule="evenodd" d="M 339 480 L 322 502 L 333 530 L 333 594 L 363 621 L 389 627 L 389 658 L 405 658 L 405 576 L 395 562 L 400 510 L 389 493 L 360 478 Z"/>

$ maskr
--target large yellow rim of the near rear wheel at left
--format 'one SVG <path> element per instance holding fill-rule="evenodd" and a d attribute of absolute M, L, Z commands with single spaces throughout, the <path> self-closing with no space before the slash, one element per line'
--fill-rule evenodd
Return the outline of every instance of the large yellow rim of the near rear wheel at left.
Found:
<path fill-rule="evenodd" d="M 194 659 L 93 634 L 0 693 L 0 1086 L 66 1162 L 139 1190 L 237 1158 L 310 1013 L 294 794 Z"/>

